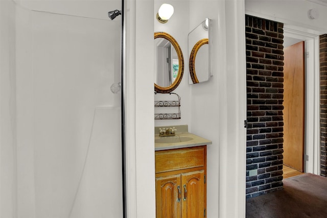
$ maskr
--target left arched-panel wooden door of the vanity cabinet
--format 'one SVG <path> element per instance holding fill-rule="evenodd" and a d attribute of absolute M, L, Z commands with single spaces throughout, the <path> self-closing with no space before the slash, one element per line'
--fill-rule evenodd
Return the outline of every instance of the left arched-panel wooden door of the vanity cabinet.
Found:
<path fill-rule="evenodd" d="M 181 218 L 180 174 L 156 178 L 156 217 Z"/>

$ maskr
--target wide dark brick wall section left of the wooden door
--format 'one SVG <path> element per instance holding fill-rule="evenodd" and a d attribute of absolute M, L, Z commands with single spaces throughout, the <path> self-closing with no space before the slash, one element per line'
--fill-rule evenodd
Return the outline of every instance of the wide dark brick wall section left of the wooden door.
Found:
<path fill-rule="evenodd" d="M 246 15 L 245 25 L 250 198 L 283 188 L 284 36 L 283 23 Z"/>

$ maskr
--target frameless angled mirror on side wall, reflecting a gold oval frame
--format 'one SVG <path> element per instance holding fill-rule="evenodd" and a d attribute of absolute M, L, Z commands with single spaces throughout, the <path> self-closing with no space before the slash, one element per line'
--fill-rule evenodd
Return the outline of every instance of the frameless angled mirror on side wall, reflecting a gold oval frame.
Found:
<path fill-rule="evenodd" d="M 205 18 L 193 31 L 189 33 L 189 84 L 208 81 L 212 76 L 210 67 L 210 22 Z"/>

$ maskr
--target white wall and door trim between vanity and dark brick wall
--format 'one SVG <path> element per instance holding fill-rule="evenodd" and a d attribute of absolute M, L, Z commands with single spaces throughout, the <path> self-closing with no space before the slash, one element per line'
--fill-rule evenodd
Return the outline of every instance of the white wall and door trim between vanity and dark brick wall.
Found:
<path fill-rule="evenodd" d="M 209 40 L 213 44 L 214 76 L 208 82 L 191 86 L 191 131 L 213 141 L 207 151 L 208 217 L 245 214 L 243 15 L 242 1 L 191 2 L 190 31 L 205 17 L 212 19 L 213 30 Z"/>

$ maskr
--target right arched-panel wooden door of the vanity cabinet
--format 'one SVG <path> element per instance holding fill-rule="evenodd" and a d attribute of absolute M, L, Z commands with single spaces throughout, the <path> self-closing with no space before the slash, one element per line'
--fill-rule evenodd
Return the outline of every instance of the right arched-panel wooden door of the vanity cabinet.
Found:
<path fill-rule="evenodd" d="M 204 217 L 204 171 L 182 175 L 182 217 Z"/>

